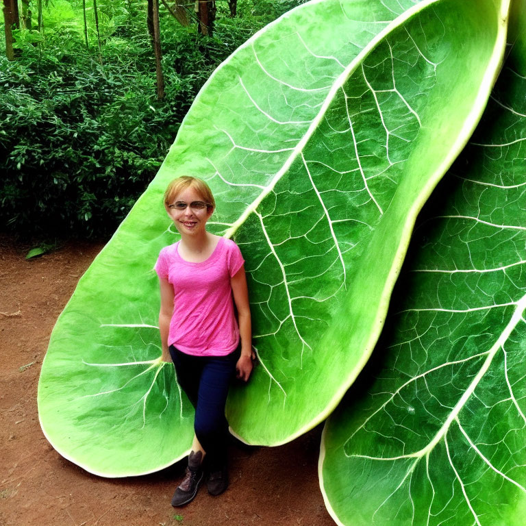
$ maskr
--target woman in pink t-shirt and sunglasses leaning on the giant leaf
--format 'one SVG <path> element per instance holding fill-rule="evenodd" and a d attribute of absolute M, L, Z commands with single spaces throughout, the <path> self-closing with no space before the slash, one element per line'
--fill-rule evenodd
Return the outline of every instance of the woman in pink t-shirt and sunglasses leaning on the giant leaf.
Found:
<path fill-rule="evenodd" d="M 251 317 L 245 260 L 234 241 L 206 231 L 214 196 L 205 181 L 183 176 L 164 193 L 164 207 L 181 240 L 160 251 L 159 328 L 162 358 L 195 408 L 195 436 L 173 506 L 194 499 L 207 457 L 208 492 L 228 486 L 225 402 L 234 374 L 252 371 Z M 234 314 L 234 303 L 238 317 Z"/>

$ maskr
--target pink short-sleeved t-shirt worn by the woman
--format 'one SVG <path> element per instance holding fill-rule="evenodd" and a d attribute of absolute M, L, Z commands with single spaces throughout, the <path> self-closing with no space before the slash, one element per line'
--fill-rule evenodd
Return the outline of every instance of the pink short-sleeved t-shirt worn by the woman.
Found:
<path fill-rule="evenodd" d="M 225 356 L 239 342 L 230 278 L 245 263 L 236 243 L 221 238 L 208 260 L 190 263 L 179 242 L 159 253 L 155 271 L 173 286 L 168 345 L 197 356 Z"/>

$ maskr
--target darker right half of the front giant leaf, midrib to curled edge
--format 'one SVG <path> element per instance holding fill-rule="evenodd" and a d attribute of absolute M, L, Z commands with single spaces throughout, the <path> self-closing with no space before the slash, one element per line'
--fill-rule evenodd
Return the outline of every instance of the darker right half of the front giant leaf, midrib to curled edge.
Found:
<path fill-rule="evenodd" d="M 501 9 L 438 1 L 405 12 L 351 63 L 286 177 L 236 231 L 259 255 L 248 269 L 262 367 L 227 405 L 245 440 L 310 429 L 366 362 L 416 214 L 486 103 Z"/>

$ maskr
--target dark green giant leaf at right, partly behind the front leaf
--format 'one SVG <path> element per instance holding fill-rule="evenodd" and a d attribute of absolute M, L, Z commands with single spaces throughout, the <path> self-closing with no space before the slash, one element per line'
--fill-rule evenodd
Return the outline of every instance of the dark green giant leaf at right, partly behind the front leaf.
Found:
<path fill-rule="evenodd" d="M 401 299 L 371 358 L 375 379 L 327 421 L 320 475 L 338 524 L 525 523 L 526 77 L 517 66 L 504 68 L 415 230 Z"/>

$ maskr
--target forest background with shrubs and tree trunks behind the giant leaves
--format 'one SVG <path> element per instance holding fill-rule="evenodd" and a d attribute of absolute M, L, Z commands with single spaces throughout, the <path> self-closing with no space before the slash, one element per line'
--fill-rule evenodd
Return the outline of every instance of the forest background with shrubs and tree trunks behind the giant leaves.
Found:
<path fill-rule="evenodd" d="M 3 0 L 0 229 L 109 238 L 214 68 L 303 1 Z"/>

